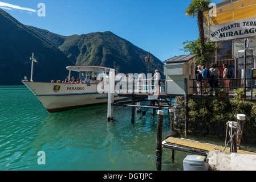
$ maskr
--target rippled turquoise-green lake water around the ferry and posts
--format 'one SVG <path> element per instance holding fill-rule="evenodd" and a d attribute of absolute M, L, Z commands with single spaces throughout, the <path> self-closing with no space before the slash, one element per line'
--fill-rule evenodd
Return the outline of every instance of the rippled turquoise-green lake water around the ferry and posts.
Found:
<path fill-rule="evenodd" d="M 113 122 L 106 120 L 107 105 L 48 113 L 24 86 L 0 86 L 0 105 L 0 170 L 156 170 L 157 114 L 152 117 L 151 111 L 135 123 L 131 107 L 123 106 L 115 107 Z M 163 137 L 170 130 L 167 113 L 162 130 Z M 46 164 L 38 164 L 39 151 L 45 152 Z M 162 170 L 182 171 L 186 155 L 191 154 L 176 151 L 172 162 L 164 148 Z"/>

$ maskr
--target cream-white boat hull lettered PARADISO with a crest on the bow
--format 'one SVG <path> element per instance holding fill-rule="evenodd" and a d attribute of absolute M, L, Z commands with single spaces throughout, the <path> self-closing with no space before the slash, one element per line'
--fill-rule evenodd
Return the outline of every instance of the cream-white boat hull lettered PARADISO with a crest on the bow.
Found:
<path fill-rule="evenodd" d="M 49 113 L 105 104 L 107 93 L 98 93 L 97 84 L 66 84 L 49 82 L 26 82 L 25 84 L 38 98 Z M 125 97 L 115 97 L 124 100 Z"/>

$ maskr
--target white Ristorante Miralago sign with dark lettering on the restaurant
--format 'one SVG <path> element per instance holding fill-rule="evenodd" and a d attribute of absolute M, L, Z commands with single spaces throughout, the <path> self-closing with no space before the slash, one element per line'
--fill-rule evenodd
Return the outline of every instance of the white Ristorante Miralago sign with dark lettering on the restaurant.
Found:
<path fill-rule="evenodd" d="M 256 17 L 205 27 L 205 38 L 210 42 L 256 36 Z"/>

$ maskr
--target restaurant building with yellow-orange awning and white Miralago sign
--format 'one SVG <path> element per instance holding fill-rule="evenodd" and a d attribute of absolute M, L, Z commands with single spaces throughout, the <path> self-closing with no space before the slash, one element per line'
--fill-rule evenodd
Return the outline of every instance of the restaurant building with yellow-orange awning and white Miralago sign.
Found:
<path fill-rule="evenodd" d="M 220 77 L 222 64 L 227 63 L 234 78 L 243 78 L 238 51 L 244 49 L 245 39 L 248 39 L 252 57 L 251 65 L 246 68 L 246 78 L 250 78 L 251 68 L 256 65 L 256 0 L 225 0 L 213 5 L 209 13 L 204 14 L 204 31 L 205 41 L 215 42 L 219 47 L 212 61 L 217 63 Z M 242 86 L 243 82 L 233 84 Z"/>

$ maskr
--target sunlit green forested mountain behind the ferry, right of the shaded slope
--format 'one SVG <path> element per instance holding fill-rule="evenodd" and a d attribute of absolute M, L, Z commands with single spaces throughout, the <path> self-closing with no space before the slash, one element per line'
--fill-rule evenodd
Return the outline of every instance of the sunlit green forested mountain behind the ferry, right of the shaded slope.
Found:
<path fill-rule="evenodd" d="M 58 46 L 76 65 L 100 65 L 115 68 L 116 73 L 147 73 L 145 57 L 148 52 L 110 31 L 62 36 L 31 27 Z M 162 61 L 151 55 L 150 72 L 159 69 L 163 75 Z"/>

